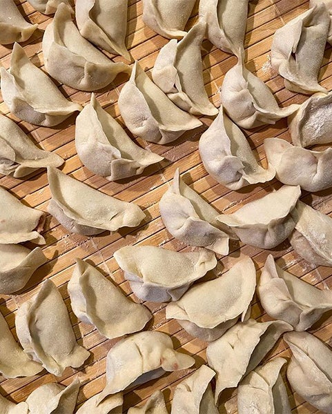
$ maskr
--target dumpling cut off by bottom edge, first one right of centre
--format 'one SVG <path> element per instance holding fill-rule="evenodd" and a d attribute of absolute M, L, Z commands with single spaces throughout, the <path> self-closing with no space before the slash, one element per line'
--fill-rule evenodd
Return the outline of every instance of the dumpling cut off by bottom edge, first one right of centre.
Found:
<path fill-rule="evenodd" d="M 215 371 L 202 365 L 176 386 L 170 414 L 219 414 L 213 402 L 211 380 Z"/>

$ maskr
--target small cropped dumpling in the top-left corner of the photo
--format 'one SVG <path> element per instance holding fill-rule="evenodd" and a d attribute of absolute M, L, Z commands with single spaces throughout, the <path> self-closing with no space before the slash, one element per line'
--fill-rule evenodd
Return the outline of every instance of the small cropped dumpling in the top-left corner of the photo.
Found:
<path fill-rule="evenodd" d="M 37 29 L 37 24 L 30 24 L 23 19 L 13 0 L 1 0 L 0 9 L 0 44 L 9 45 L 15 41 L 26 41 Z"/>

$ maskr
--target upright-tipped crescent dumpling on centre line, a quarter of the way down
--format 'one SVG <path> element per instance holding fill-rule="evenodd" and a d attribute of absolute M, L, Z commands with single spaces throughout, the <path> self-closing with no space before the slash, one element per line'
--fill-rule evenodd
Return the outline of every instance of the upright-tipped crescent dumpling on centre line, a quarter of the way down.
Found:
<path fill-rule="evenodd" d="M 121 89 L 118 104 L 130 132 L 156 144 L 168 144 L 185 131 L 202 125 L 170 101 L 137 61 Z"/>

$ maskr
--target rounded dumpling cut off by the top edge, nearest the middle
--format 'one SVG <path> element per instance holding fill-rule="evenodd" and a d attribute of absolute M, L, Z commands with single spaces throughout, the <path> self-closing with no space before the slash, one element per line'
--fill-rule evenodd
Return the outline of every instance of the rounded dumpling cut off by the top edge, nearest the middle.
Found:
<path fill-rule="evenodd" d="M 168 39 L 184 37 L 184 26 L 191 16 L 196 0 L 143 0 L 143 21 L 146 26 Z"/>

